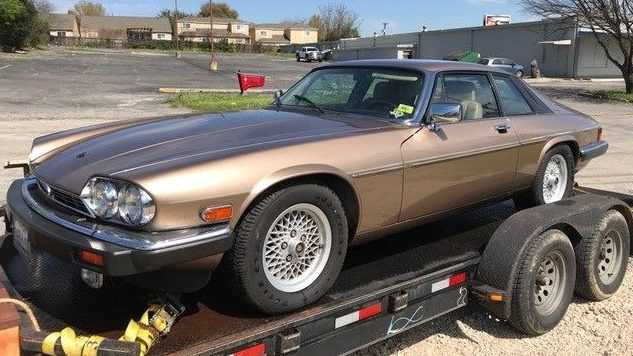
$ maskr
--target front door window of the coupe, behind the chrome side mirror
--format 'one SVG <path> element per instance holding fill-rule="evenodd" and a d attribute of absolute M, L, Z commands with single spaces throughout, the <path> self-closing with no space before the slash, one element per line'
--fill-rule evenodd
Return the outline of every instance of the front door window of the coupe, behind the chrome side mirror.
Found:
<path fill-rule="evenodd" d="M 499 116 L 499 106 L 486 74 L 444 74 L 435 84 L 431 103 L 460 104 L 463 120 Z"/>

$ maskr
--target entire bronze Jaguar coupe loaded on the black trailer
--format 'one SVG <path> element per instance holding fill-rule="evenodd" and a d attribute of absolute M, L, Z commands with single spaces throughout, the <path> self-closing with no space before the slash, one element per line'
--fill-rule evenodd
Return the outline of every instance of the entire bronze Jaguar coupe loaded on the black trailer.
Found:
<path fill-rule="evenodd" d="M 558 201 L 607 146 L 596 121 L 491 67 L 343 62 L 262 110 L 35 139 L 8 230 L 94 287 L 193 291 L 219 265 L 279 313 L 321 297 L 350 244 L 483 202 Z"/>

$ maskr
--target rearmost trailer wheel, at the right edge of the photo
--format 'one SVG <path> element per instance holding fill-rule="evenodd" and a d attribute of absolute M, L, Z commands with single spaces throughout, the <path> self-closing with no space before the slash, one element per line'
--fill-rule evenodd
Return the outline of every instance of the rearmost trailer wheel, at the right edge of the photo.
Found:
<path fill-rule="evenodd" d="M 622 284 L 631 250 L 629 227 L 617 210 L 602 215 L 596 230 L 576 245 L 576 293 L 588 300 L 605 300 Z"/>

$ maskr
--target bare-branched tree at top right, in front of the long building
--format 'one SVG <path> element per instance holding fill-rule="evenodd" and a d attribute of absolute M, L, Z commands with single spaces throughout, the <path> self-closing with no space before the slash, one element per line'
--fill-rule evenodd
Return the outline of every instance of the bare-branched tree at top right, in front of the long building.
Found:
<path fill-rule="evenodd" d="M 633 93 L 633 0 L 521 0 L 526 12 L 574 19 L 591 29 L 604 54 Z M 615 46 L 611 46 L 613 43 Z"/>

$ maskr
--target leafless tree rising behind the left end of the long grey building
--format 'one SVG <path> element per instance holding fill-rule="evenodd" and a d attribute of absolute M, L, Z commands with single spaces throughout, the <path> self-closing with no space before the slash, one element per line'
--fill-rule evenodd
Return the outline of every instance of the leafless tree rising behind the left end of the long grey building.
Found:
<path fill-rule="evenodd" d="M 312 15 L 308 25 L 319 30 L 319 41 L 338 41 L 341 38 L 358 37 L 358 14 L 345 4 L 319 6 L 319 13 Z"/>

